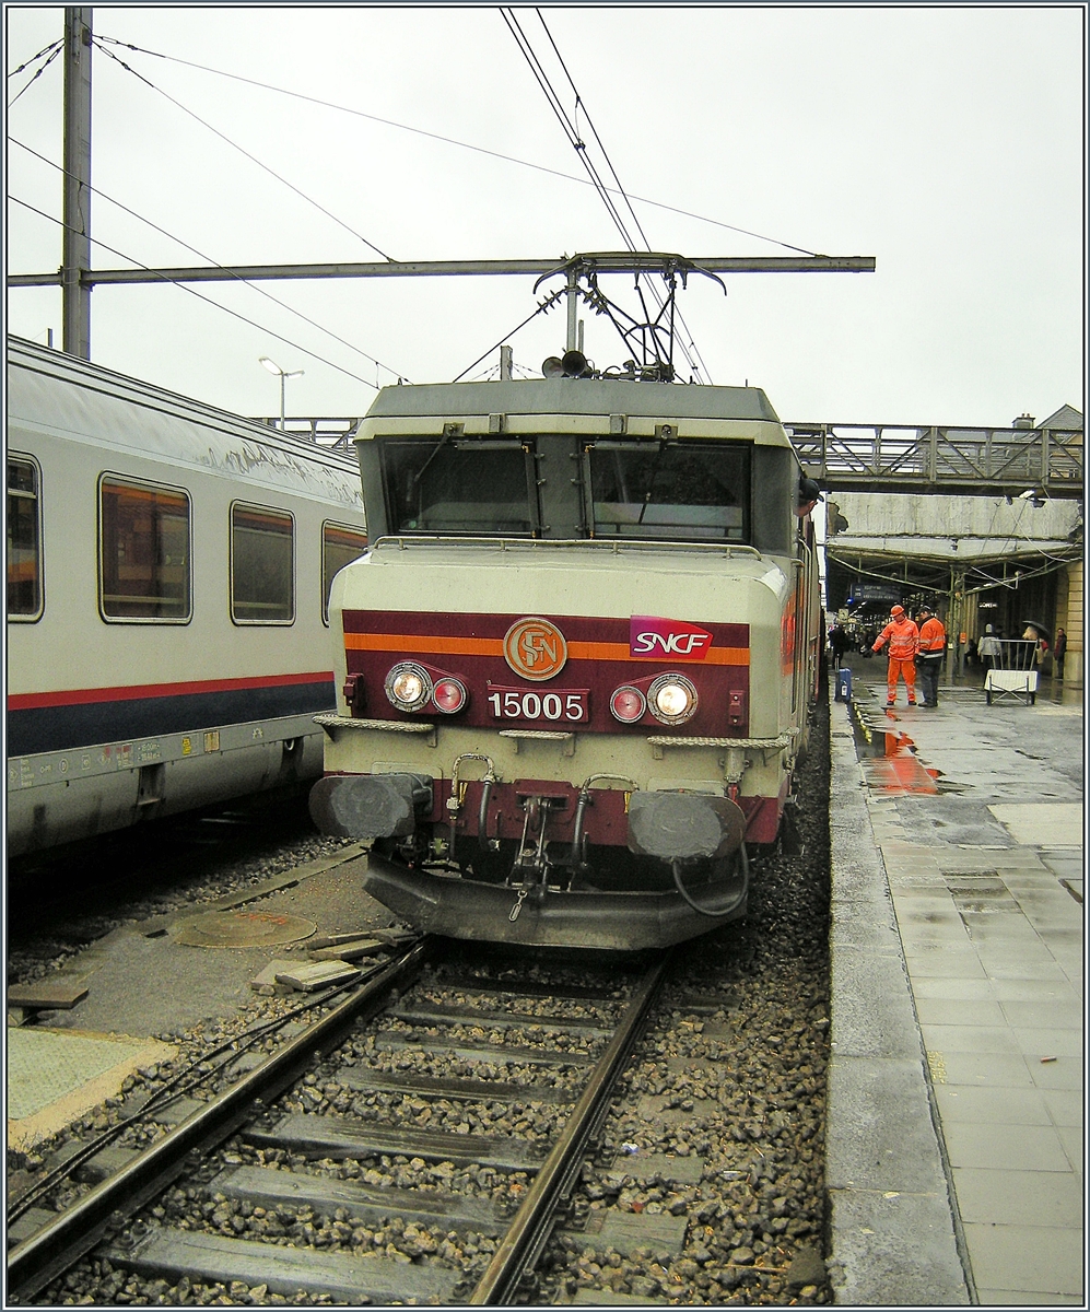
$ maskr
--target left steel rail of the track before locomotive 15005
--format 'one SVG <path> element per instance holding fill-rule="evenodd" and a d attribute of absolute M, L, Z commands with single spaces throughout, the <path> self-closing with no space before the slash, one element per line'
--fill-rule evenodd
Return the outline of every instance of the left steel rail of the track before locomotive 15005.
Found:
<path fill-rule="evenodd" d="M 387 991 L 416 974 L 432 950 L 429 939 L 373 975 L 358 991 L 315 1025 L 274 1052 L 236 1084 L 212 1098 L 163 1139 L 60 1212 L 8 1256 L 8 1304 L 26 1303 L 88 1253 L 119 1219 L 131 1215 L 185 1169 L 190 1153 L 206 1153 L 278 1097 L 316 1055 L 344 1042 L 369 1005 L 380 1005 Z"/>

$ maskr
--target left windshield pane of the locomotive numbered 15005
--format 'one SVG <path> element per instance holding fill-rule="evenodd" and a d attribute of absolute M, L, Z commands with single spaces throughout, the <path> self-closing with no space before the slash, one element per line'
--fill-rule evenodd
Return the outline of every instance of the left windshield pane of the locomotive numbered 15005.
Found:
<path fill-rule="evenodd" d="M 519 442 L 387 441 L 391 533 L 529 534 L 533 478 Z"/>

